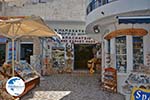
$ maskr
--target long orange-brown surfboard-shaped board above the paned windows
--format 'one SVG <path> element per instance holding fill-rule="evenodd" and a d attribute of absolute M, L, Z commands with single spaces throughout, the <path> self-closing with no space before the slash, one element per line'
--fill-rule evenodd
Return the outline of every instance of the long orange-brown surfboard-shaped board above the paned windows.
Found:
<path fill-rule="evenodd" d="M 144 36 L 147 33 L 148 31 L 143 28 L 120 29 L 120 30 L 110 32 L 108 35 L 104 37 L 104 39 L 109 40 L 117 36 L 125 36 L 125 35 Z"/>

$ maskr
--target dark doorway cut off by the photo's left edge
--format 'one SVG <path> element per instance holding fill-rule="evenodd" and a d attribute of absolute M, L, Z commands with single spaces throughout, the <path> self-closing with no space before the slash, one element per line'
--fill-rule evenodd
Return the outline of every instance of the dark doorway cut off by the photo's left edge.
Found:
<path fill-rule="evenodd" d="M 0 44 L 0 66 L 5 62 L 6 44 Z"/>

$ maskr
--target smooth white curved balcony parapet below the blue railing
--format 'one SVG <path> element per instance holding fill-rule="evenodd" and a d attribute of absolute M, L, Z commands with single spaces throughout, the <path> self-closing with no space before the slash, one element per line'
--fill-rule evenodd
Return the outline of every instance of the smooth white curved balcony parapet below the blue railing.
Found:
<path fill-rule="evenodd" d="M 120 15 L 123 13 L 137 12 L 146 10 L 144 15 L 150 13 L 150 2 L 149 0 L 117 0 L 103 6 L 100 6 L 93 10 L 86 17 L 86 25 L 89 25 L 95 21 L 107 18 L 109 16 Z M 104 12 L 104 15 L 101 12 Z M 136 13 L 131 13 L 136 14 Z"/>

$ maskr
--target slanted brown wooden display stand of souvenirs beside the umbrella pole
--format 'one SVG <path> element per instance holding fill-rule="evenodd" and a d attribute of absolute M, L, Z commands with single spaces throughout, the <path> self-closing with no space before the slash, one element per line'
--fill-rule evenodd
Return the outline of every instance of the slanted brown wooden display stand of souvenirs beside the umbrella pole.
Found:
<path fill-rule="evenodd" d="M 15 63 L 15 72 L 25 82 L 25 91 L 19 96 L 25 95 L 32 88 L 40 84 L 40 74 L 28 63 Z"/>

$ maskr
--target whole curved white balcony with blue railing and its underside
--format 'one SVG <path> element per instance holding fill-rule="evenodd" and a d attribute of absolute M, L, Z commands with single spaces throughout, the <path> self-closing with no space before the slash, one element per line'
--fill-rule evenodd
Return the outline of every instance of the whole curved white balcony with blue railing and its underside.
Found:
<path fill-rule="evenodd" d="M 116 16 L 149 16 L 149 0 L 93 0 L 87 8 L 86 31 L 93 32 L 95 25 L 106 26 L 116 22 Z M 96 3 L 98 2 L 98 3 Z"/>

